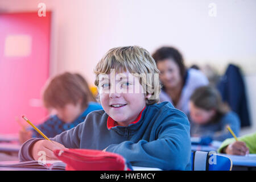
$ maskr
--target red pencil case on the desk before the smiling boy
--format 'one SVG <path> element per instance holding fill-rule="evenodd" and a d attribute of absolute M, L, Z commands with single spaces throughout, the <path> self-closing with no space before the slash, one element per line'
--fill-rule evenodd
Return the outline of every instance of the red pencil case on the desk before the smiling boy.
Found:
<path fill-rule="evenodd" d="M 55 156 L 67 164 L 67 171 L 130 171 L 123 156 L 90 149 L 55 150 Z"/>

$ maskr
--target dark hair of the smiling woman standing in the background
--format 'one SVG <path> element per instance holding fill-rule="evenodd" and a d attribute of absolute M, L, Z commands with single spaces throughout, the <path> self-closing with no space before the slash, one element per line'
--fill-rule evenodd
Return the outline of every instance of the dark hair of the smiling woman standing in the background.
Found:
<path fill-rule="evenodd" d="M 153 54 L 152 57 L 157 64 L 159 61 L 163 61 L 166 59 L 172 59 L 180 68 L 180 75 L 183 78 L 185 76 L 185 65 L 183 61 L 183 56 L 181 53 L 174 47 L 161 47 L 157 49 Z"/>

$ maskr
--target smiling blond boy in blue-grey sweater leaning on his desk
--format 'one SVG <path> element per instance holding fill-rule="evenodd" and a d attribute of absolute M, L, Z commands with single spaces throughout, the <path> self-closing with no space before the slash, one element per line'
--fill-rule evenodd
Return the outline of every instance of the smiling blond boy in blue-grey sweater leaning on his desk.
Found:
<path fill-rule="evenodd" d="M 150 53 L 138 46 L 110 49 L 94 72 L 104 110 L 50 138 L 54 144 L 28 140 L 20 160 L 38 160 L 39 151 L 46 152 L 46 160 L 56 160 L 56 149 L 87 148 L 117 153 L 133 166 L 190 170 L 189 121 L 170 102 L 157 104 L 159 71 Z"/>

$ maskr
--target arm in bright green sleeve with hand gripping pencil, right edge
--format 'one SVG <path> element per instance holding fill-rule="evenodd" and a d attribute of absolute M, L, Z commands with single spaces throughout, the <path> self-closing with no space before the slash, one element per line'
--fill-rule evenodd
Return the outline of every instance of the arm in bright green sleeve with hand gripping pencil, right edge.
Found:
<path fill-rule="evenodd" d="M 243 135 L 236 141 L 234 138 L 228 138 L 222 142 L 218 152 L 229 155 L 256 154 L 256 132 Z"/>

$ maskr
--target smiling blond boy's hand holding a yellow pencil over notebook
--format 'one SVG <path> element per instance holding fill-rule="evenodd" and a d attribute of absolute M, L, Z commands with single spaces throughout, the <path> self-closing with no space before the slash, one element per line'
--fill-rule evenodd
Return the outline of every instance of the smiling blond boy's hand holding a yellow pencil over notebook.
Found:
<path fill-rule="evenodd" d="M 53 154 L 54 150 L 67 149 L 63 144 L 49 140 L 39 140 L 32 146 L 32 157 L 38 160 L 43 154 L 46 155 L 46 160 L 59 160 Z"/>

